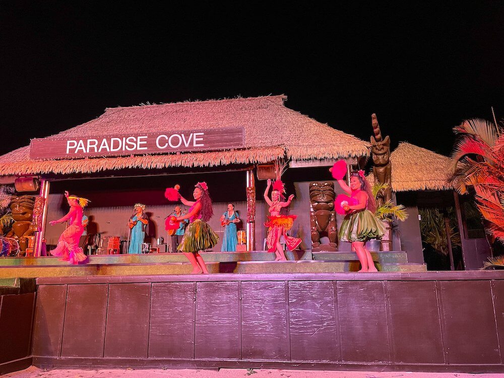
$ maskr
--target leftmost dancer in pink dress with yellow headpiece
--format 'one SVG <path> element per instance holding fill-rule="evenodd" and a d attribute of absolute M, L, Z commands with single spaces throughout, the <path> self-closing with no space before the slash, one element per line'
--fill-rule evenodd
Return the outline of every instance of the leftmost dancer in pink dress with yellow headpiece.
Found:
<path fill-rule="evenodd" d="M 59 237 L 58 245 L 51 251 L 51 255 L 61 256 L 61 261 L 70 261 L 71 264 L 79 264 L 87 259 L 82 248 L 79 246 L 79 239 L 84 232 L 82 209 L 89 203 L 89 200 L 82 197 L 69 196 L 68 192 L 65 192 L 65 197 L 67 197 L 68 204 L 70 205 L 70 211 L 64 217 L 50 221 L 49 224 L 54 226 L 56 223 L 69 221 L 70 226 Z"/>

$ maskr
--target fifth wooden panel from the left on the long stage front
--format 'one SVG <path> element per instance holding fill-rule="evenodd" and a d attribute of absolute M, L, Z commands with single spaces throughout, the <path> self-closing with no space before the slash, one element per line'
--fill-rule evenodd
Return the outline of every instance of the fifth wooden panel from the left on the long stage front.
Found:
<path fill-rule="evenodd" d="M 239 283 L 198 282 L 196 358 L 240 358 Z"/>

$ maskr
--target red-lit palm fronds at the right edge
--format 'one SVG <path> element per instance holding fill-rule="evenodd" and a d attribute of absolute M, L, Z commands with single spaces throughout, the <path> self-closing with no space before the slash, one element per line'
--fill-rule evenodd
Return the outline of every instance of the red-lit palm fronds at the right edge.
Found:
<path fill-rule="evenodd" d="M 455 127 L 458 139 L 454 187 L 460 194 L 473 188 L 476 206 L 492 238 L 504 242 L 504 134 L 496 123 L 485 119 L 465 120 Z"/>

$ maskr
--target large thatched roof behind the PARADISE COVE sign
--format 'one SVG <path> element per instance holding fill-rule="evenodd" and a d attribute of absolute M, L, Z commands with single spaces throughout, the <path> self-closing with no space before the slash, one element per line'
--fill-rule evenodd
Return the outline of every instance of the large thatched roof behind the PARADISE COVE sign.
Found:
<path fill-rule="evenodd" d="M 107 108 L 96 119 L 47 139 L 243 127 L 240 150 L 31 160 L 30 147 L 0 156 L 0 175 L 92 173 L 122 168 L 206 167 L 367 156 L 369 144 L 284 106 L 286 96 L 265 96 Z"/>

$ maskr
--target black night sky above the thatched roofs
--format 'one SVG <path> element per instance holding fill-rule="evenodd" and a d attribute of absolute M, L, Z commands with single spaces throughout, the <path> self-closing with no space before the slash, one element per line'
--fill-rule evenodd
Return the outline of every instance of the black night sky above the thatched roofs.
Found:
<path fill-rule="evenodd" d="M 393 147 L 443 154 L 462 119 L 504 118 L 502 2 L 102 3 L 0 2 L 0 153 L 147 101 L 286 94 L 365 140 L 375 112 Z"/>

